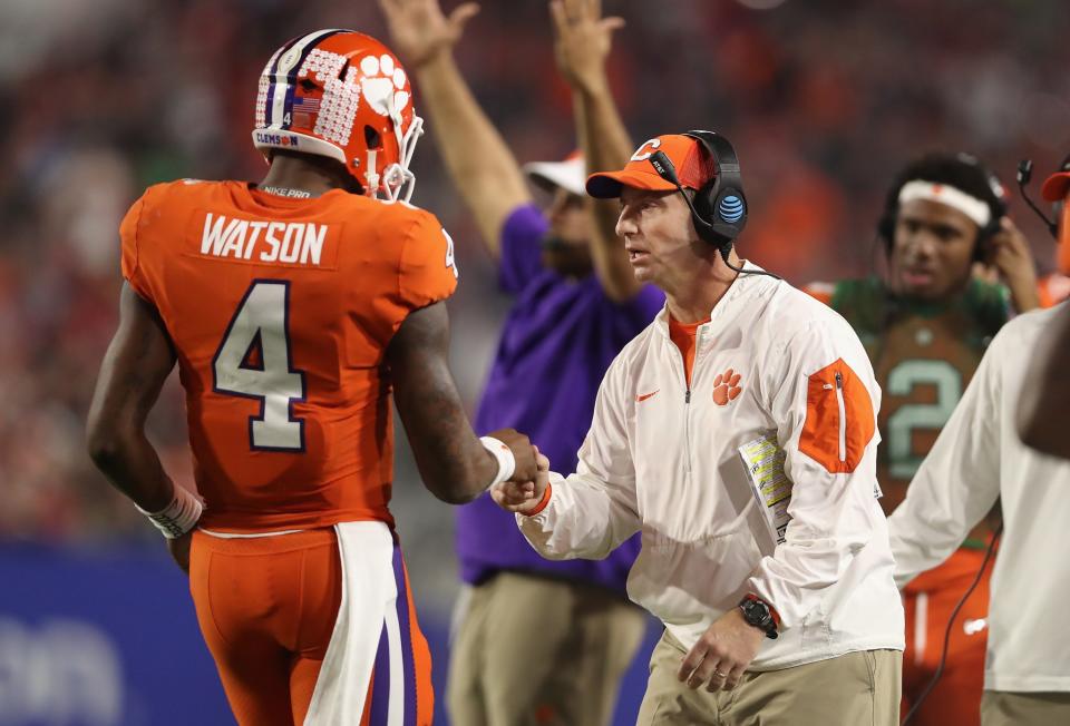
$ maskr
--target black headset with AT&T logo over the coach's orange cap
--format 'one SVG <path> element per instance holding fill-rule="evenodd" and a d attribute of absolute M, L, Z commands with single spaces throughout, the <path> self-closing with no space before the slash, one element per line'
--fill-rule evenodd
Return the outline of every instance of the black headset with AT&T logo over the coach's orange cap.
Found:
<path fill-rule="evenodd" d="M 729 268 L 745 275 L 768 275 L 780 279 L 770 272 L 743 269 L 728 262 L 728 253 L 736 238 L 747 226 L 747 196 L 743 194 L 743 177 L 739 173 L 739 159 L 736 149 L 727 138 L 713 131 L 684 131 L 682 136 L 693 138 L 706 154 L 713 159 L 713 176 L 694 193 L 694 202 L 688 196 L 677 168 L 664 151 L 650 155 L 650 164 L 662 179 L 677 187 L 691 209 L 691 222 L 699 237 L 716 246 L 721 259 Z"/>

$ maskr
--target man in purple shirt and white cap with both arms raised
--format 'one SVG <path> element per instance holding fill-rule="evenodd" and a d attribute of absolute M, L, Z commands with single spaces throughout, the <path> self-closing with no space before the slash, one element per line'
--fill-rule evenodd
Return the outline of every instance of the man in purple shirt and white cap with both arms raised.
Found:
<path fill-rule="evenodd" d="M 575 464 L 606 367 L 664 302 L 635 281 L 613 230 L 615 205 L 583 192 L 583 157 L 594 168 L 615 168 L 631 155 L 605 77 L 622 21 L 601 18 L 593 0 L 551 3 L 583 157 L 522 170 L 454 62 L 453 47 L 477 8 L 463 4 L 447 18 L 438 0 L 380 7 L 392 46 L 416 76 L 446 168 L 498 261 L 502 288 L 515 296 L 476 430 L 516 428 L 551 460 Z M 532 203 L 525 170 L 553 195 L 545 212 Z M 624 592 L 638 541 L 600 562 L 552 562 L 488 496 L 460 511 L 457 530 L 469 587 L 450 660 L 453 722 L 609 723 L 644 630 Z"/>

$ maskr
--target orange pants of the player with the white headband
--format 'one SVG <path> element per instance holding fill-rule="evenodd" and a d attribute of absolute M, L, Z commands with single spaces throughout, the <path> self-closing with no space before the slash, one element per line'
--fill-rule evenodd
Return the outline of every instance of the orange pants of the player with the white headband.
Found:
<path fill-rule="evenodd" d="M 959 549 L 943 565 L 922 573 L 903 590 L 906 650 L 899 713 L 904 718 L 936 673 L 952 610 L 976 578 L 983 560 L 983 551 Z M 944 673 L 918 708 L 912 726 L 977 726 L 981 723 L 991 577 L 990 562 L 955 618 Z"/>

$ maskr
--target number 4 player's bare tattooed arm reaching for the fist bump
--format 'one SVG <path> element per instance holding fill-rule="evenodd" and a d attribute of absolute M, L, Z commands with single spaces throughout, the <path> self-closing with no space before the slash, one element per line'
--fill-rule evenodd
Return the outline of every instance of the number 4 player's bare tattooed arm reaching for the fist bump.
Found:
<path fill-rule="evenodd" d="M 448 357 L 446 303 L 410 313 L 387 349 L 395 403 L 420 477 L 438 499 L 463 504 L 487 489 L 498 473 L 498 461 L 468 423 Z M 527 436 L 512 429 L 489 435 L 512 450 L 516 460 L 513 479 L 535 479 L 535 453 Z"/>

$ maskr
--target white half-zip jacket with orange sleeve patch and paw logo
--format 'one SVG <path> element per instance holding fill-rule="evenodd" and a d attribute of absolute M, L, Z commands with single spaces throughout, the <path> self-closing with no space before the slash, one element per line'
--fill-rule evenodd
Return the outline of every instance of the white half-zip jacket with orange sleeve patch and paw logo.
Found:
<path fill-rule="evenodd" d="M 876 500 L 879 400 L 838 314 L 740 275 L 698 330 L 690 390 L 662 311 L 606 372 L 578 472 L 554 477 L 546 508 L 517 522 L 551 559 L 603 558 L 641 530 L 629 595 L 689 648 L 753 592 L 779 612 L 781 635 L 752 669 L 902 650 Z M 778 483 L 778 460 L 789 481 Z M 768 477 L 768 501 L 789 502 L 780 544 L 750 468 Z"/>

